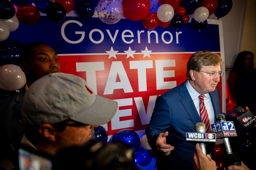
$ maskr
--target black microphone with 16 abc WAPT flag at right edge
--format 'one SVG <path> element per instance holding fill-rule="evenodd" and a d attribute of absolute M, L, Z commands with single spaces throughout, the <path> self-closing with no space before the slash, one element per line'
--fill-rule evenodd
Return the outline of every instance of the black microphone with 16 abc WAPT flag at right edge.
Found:
<path fill-rule="evenodd" d="M 234 108 L 234 111 L 239 116 L 237 118 L 238 121 L 243 125 L 246 130 L 254 127 L 254 125 L 256 124 L 256 118 L 250 111 L 245 112 L 241 106 Z"/>

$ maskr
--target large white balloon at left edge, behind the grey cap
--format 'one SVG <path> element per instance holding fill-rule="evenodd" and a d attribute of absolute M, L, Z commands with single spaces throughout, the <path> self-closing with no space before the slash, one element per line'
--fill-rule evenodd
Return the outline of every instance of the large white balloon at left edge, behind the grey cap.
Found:
<path fill-rule="evenodd" d="M 0 67 L 0 88 L 14 91 L 26 84 L 26 77 L 19 66 L 7 64 Z"/>

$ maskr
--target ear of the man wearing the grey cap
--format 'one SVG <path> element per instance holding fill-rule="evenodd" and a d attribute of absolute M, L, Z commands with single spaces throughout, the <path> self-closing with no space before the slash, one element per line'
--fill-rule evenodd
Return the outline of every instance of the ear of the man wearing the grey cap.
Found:
<path fill-rule="evenodd" d="M 51 124 L 43 124 L 39 127 L 39 134 L 50 141 L 56 140 L 56 130 Z"/>

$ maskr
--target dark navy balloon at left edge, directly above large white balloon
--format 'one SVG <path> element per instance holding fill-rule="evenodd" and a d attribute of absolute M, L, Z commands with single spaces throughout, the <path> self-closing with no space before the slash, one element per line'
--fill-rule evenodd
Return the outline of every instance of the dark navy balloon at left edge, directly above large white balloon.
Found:
<path fill-rule="evenodd" d="M 22 42 L 6 39 L 0 42 L 0 66 L 14 64 L 19 66 L 19 50 L 24 46 Z"/>

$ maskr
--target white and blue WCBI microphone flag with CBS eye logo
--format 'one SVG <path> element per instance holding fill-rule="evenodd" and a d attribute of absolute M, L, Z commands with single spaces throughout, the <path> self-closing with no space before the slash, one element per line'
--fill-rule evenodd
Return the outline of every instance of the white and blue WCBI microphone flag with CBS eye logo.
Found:
<path fill-rule="evenodd" d="M 216 135 L 210 133 L 187 132 L 186 140 L 200 142 L 216 142 Z"/>

